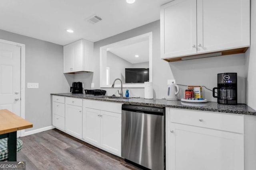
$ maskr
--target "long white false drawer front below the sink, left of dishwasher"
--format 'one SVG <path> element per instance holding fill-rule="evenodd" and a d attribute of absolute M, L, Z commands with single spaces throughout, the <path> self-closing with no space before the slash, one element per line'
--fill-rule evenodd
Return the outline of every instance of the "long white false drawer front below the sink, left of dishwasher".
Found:
<path fill-rule="evenodd" d="M 103 101 L 84 99 L 83 104 L 84 104 L 83 106 L 87 108 L 110 111 L 115 113 L 122 113 L 122 103 L 103 102 Z"/>

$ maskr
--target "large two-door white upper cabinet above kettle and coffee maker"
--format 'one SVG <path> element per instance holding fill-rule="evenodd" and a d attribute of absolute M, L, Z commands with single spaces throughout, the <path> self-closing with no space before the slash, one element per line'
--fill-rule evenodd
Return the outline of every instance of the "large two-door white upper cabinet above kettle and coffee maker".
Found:
<path fill-rule="evenodd" d="M 174 0 L 161 8 L 162 59 L 249 46 L 250 0 Z"/>

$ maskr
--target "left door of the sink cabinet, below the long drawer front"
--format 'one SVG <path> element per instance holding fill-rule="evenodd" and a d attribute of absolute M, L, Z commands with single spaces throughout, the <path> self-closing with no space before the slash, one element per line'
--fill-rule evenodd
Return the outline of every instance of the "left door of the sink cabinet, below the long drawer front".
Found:
<path fill-rule="evenodd" d="M 100 110 L 84 107 L 83 139 L 100 146 Z"/>

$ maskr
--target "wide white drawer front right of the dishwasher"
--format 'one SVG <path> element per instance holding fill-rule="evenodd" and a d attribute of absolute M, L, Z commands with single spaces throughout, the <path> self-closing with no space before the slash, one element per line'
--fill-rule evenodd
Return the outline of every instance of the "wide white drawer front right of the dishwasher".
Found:
<path fill-rule="evenodd" d="M 244 133 L 244 115 L 170 108 L 170 122 Z"/>

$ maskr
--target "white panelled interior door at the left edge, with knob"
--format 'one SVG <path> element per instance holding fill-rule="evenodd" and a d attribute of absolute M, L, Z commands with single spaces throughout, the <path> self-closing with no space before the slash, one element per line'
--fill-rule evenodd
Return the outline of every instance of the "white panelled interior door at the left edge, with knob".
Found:
<path fill-rule="evenodd" d="M 20 47 L 0 43 L 0 109 L 20 116 Z M 17 132 L 20 136 L 20 132 Z"/>

